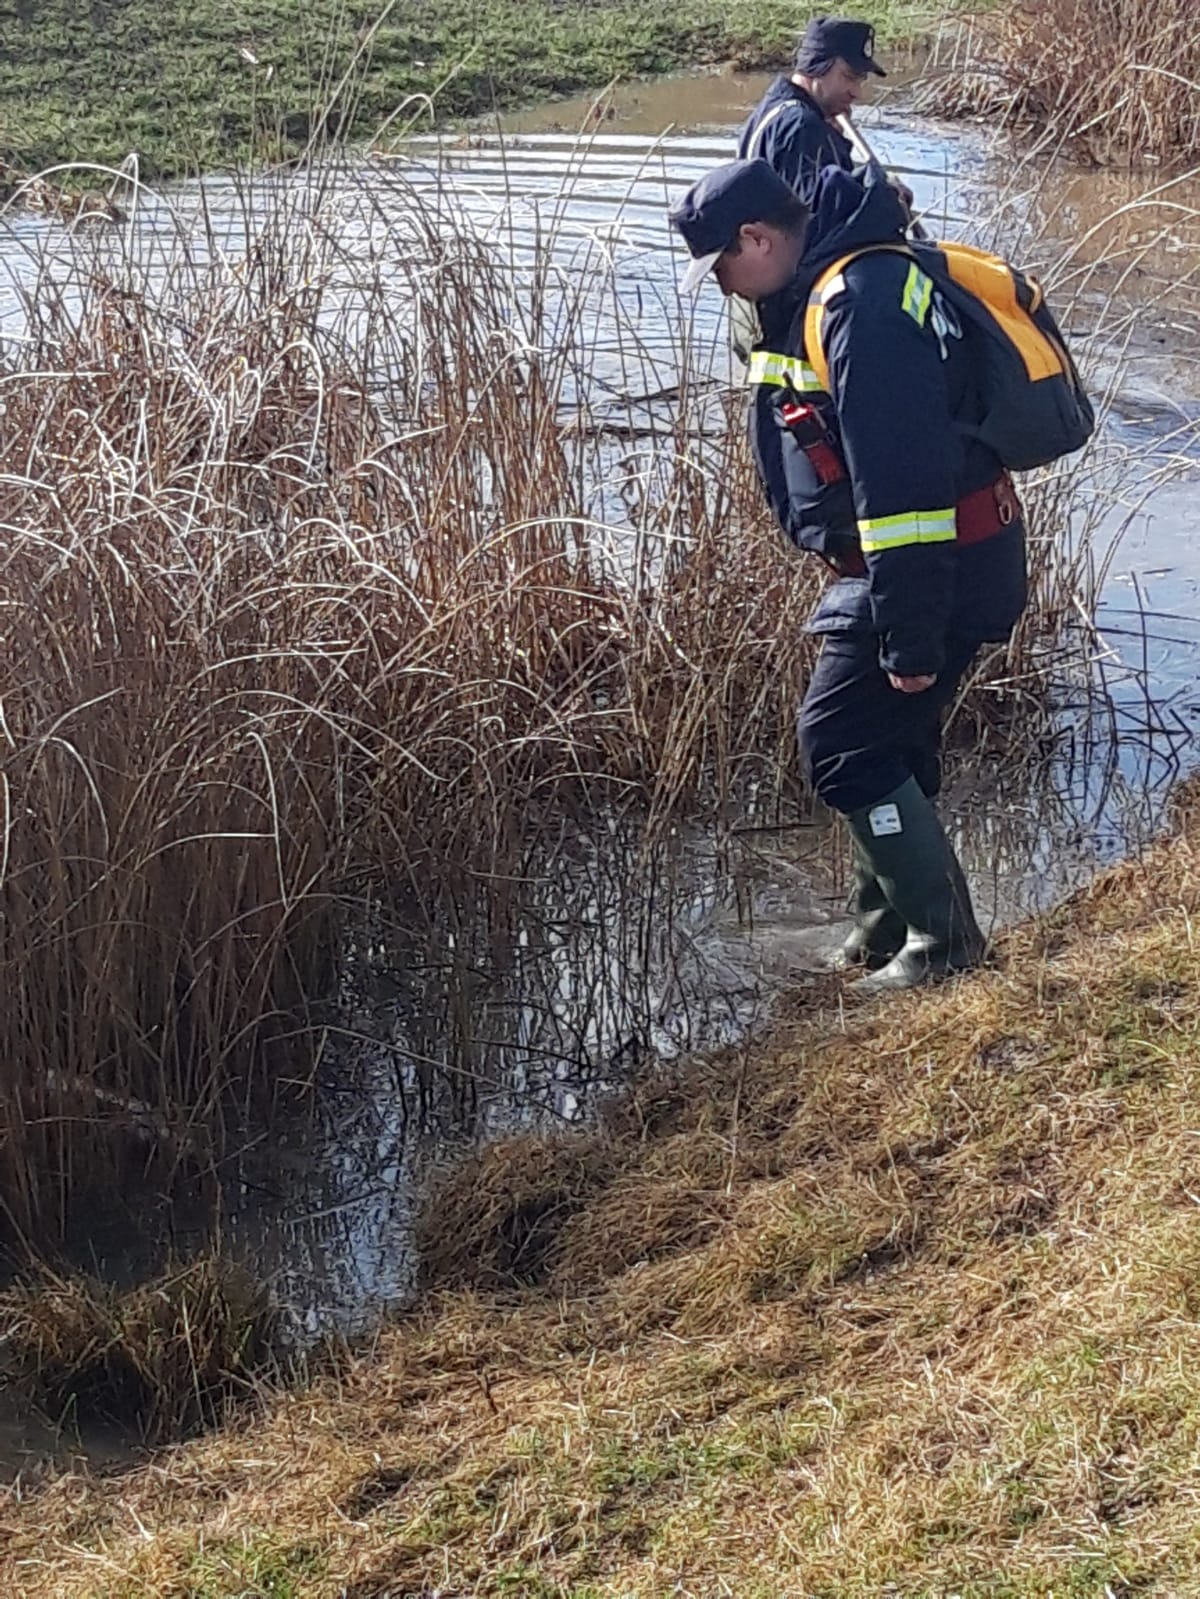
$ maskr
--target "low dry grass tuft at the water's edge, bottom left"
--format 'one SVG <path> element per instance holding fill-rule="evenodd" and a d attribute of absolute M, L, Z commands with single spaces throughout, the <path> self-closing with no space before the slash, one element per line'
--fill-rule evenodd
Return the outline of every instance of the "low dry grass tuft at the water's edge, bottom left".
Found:
<path fill-rule="evenodd" d="M 125 1290 L 43 1270 L 0 1294 L 0 1346 L 6 1383 L 51 1418 L 157 1444 L 211 1426 L 278 1370 L 278 1316 L 216 1255 Z"/>

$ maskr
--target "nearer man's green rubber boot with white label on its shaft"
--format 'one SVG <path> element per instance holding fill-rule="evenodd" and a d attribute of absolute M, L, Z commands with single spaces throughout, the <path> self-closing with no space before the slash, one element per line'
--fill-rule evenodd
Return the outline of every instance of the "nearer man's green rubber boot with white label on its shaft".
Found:
<path fill-rule="evenodd" d="M 846 817 L 854 843 L 888 905 L 907 927 L 886 966 L 854 983 L 869 996 L 966 972 L 984 958 L 986 940 L 971 910 L 963 870 L 920 784 L 910 777 L 874 806 Z"/>

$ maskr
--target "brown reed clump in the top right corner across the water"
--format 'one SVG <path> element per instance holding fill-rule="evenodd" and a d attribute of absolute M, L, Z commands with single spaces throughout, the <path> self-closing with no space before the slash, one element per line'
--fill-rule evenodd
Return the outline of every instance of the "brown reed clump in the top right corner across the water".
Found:
<path fill-rule="evenodd" d="M 947 29 L 923 110 L 1045 131 L 1122 166 L 1190 160 L 1200 139 L 1192 0 L 1002 5 Z"/>

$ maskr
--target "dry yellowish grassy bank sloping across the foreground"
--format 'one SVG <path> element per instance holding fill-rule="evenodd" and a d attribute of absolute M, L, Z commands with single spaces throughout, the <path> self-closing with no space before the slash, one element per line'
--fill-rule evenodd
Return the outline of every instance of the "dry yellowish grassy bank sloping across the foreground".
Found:
<path fill-rule="evenodd" d="M 493 1150 L 419 1316 L 243 1431 L 26 1484 L 8 1589 L 1197 1593 L 1197 911 L 1192 803 L 995 971 Z"/>

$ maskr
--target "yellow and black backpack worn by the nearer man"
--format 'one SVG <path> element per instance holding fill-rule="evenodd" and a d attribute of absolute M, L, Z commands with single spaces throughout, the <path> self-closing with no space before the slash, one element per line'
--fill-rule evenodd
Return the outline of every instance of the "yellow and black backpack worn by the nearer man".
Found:
<path fill-rule="evenodd" d="M 805 353 L 822 389 L 829 389 L 826 305 L 840 293 L 846 265 L 880 249 L 912 261 L 902 304 L 915 320 L 931 313 L 934 288 L 960 313 L 982 400 L 982 419 L 966 432 L 1011 472 L 1045 467 L 1086 445 L 1096 416 L 1040 283 L 971 245 L 867 245 L 829 265 L 813 285 L 805 315 Z"/>

